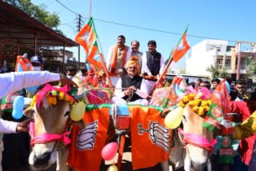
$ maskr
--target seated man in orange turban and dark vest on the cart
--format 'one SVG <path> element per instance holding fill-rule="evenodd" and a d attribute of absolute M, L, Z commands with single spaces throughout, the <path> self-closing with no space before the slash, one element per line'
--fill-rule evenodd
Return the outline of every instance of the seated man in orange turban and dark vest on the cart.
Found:
<path fill-rule="evenodd" d="M 147 97 L 145 80 L 138 76 L 138 62 L 128 61 L 126 70 L 128 74 L 118 79 L 111 102 L 148 105 L 145 99 Z"/>

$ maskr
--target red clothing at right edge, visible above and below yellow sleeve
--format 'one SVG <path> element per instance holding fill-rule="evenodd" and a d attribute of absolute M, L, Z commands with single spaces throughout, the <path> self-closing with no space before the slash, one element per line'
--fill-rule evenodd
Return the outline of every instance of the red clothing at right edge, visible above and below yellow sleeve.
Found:
<path fill-rule="evenodd" d="M 242 121 L 250 116 L 250 109 L 245 101 L 230 101 L 231 113 L 239 113 L 242 115 Z M 249 165 L 251 154 L 254 150 L 254 141 L 256 134 L 240 141 L 238 153 L 242 156 L 242 161 Z"/>

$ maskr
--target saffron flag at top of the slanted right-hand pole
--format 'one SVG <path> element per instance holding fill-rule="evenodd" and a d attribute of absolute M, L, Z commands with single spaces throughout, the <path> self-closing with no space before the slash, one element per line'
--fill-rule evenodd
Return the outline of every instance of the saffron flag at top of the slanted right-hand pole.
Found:
<path fill-rule="evenodd" d="M 187 30 L 187 27 L 186 27 L 186 30 Z M 174 50 L 174 53 L 173 53 L 174 62 L 178 62 L 178 60 L 180 60 L 184 56 L 184 54 L 186 54 L 186 51 L 190 49 L 189 44 L 186 42 L 186 30 L 182 35 L 181 40 L 178 42 L 178 46 Z"/>

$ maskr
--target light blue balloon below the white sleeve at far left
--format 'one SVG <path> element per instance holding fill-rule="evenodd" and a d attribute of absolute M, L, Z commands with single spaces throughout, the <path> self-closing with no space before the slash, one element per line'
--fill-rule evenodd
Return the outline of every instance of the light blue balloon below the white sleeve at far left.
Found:
<path fill-rule="evenodd" d="M 18 96 L 14 99 L 14 105 L 13 105 L 13 117 L 14 119 L 20 119 L 23 115 L 23 108 L 24 108 L 24 97 Z"/>

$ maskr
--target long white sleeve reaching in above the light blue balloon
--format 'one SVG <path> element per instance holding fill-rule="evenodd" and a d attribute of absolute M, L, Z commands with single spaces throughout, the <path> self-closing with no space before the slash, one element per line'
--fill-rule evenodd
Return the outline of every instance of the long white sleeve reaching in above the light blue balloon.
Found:
<path fill-rule="evenodd" d="M 0 99 L 20 89 L 55 82 L 60 79 L 59 74 L 49 71 L 25 71 L 0 74 Z"/>

